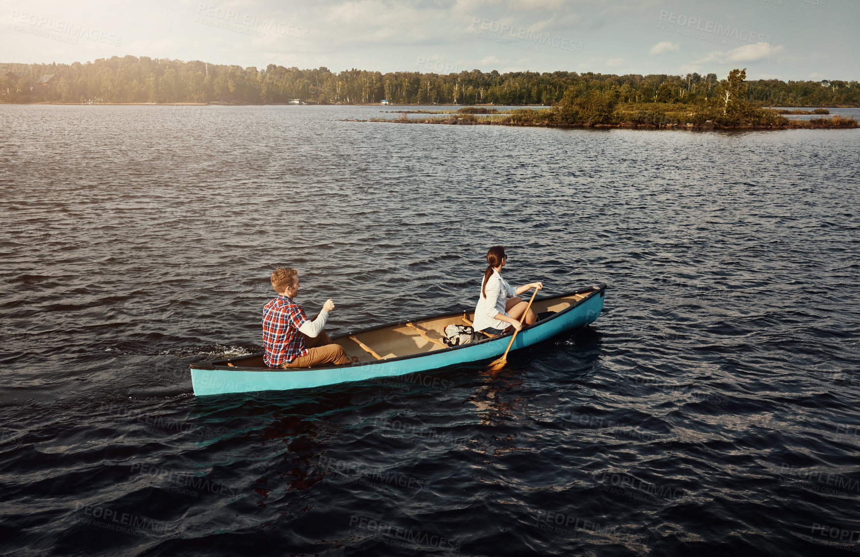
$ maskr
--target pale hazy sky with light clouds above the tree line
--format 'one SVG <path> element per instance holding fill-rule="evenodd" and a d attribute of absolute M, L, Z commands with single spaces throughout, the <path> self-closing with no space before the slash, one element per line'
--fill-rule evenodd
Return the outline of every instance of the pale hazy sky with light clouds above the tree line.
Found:
<path fill-rule="evenodd" d="M 0 63 L 860 79 L 858 0 L 0 0 Z"/>

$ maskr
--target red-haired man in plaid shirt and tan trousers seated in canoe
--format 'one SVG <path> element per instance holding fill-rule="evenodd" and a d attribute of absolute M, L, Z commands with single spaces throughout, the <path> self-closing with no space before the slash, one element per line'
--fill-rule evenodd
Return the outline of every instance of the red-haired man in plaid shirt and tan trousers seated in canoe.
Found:
<path fill-rule="evenodd" d="M 298 294 L 298 272 L 278 267 L 272 272 L 272 288 L 278 297 L 263 308 L 263 360 L 269 367 L 294 368 L 349 364 L 343 347 L 329 339 L 322 330 L 329 312 L 335 309 L 331 299 L 322 304 L 314 321 L 292 301 Z"/>

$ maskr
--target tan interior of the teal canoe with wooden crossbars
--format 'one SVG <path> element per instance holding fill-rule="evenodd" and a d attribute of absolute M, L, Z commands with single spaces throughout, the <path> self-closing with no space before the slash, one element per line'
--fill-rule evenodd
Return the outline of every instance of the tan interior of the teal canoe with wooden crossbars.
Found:
<path fill-rule="evenodd" d="M 543 300 L 535 299 L 534 303 L 531 304 L 531 308 L 536 314 L 543 313 L 544 311 L 554 311 L 558 313 L 562 311 L 562 309 L 568 309 L 570 306 L 574 305 L 574 303 L 579 302 L 582 298 L 587 297 L 591 293 L 592 291 L 589 290 L 559 297 L 544 298 Z M 367 352 L 365 348 L 360 346 L 359 342 L 356 342 L 356 340 L 360 341 L 361 344 L 364 344 L 373 352 L 376 352 L 376 355 L 382 359 L 411 356 L 413 354 L 433 352 L 447 348 L 447 346 L 442 343 L 442 339 L 445 337 L 445 334 L 443 334 L 445 327 L 451 323 L 467 325 L 468 323 L 464 321 L 464 319 L 471 322 L 473 321 L 474 315 L 474 312 L 471 311 L 465 314 L 442 315 L 440 317 L 412 321 L 412 325 L 415 327 L 409 327 L 408 325 L 403 324 L 391 325 L 389 327 L 380 327 L 374 330 L 355 334 L 340 335 L 332 338 L 332 340 L 336 344 L 343 346 L 344 351 L 347 352 L 347 356 L 350 358 L 353 356 L 355 358 L 359 358 L 359 362 L 375 362 L 378 360 L 370 352 Z M 420 331 L 427 336 L 427 339 L 430 340 L 425 339 L 424 336 L 421 335 Z M 434 343 L 433 340 L 442 343 L 443 346 L 439 346 Z M 262 354 L 249 354 L 248 356 L 218 360 L 212 362 L 212 364 L 228 365 L 230 367 L 270 369 L 265 363 L 263 363 Z"/>

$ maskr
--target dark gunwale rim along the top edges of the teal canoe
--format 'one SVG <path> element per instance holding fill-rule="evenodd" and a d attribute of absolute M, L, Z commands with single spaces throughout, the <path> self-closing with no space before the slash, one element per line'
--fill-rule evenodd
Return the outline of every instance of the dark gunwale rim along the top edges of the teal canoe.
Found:
<path fill-rule="evenodd" d="M 540 301 L 549 300 L 552 298 L 563 298 L 563 297 L 574 296 L 575 294 L 583 294 L 585 292 L 591 292 L 588 296 L 583 297 L 581 300 L 577 301 L 576 303 L 570 304 L 567 308 L 562 309 L 559 312 L 556 312 L 556 314 L 550 315 L 546 319 L 541 320 L 541 321 L 537 321 L 536 323 L 534 323 L 532 325 L 522 327 L 521 331 L 533 329 L 535 327 L 540 327 L 546 323 L 549 323 L 550 321 L 553 321 L 557 317 L 559 317 L 563 314 L 566 314 L 569 311 L 580 306 L 582 303 L 586 303 L 592 297 L 602 296 L 605 289 L 606 289 L 605 283 L 597 283 L 595 285 L 587 286 L 587 287 L 581 288 L 581 289 L 576 290 L 576 291 L 570 291 L 570 292 L 565 292 L 563 294 L 557 294 L 556 296 L 546 296 L 546 297 L 540 297 L 540 298 L 536 297 L 535 301 L 540 302 Z M 371 333 L 373 331 L 378 331 L 380 329 L 389 328 L 389 327 L 398 327 L 398 326 L 403 327 L 406 325 L 406 323 L 431 321 L 431 320 L 439 319 L 439 318 L 446 317 L 449 315 L 450 316 L 458 315 L 460 313 L 462 313 L 462 312 L 453 312 L 452 313 L 449 311 L 449 312 L 445 312 L 442 314 L 428 315 L 425 317 L 420 317 L 418 319 L 405 319 L 405 320 L 396 321 L 393 323 L 385 323 L 384 325 L 378 325 L 375 327 L 360 329 L 358 331 L 349 331 L 347 333 L 338 334 L 337 336 L 332 337 L 332 340 L 347 339 L 347 338 L 349 338 L 349 336 L 355 335 L 355 334 Z M 356 362 L 354 364 L 344 364 L 344 365 L 336 365 L 336 366 L 329 366 L 329 367 L 314 367 L 314 368 L 303 367 L 303 368 L 286 368 L 286 369 L 284 369 L 284 368 L 248 367 L 248 366 L 239 366 L 239 365 L 232 365 L 232 366 L 226 365 L 227 362 L 230 362 L 234 359 L 247 358 L 249 356 L 260 356 L 263 352 L 256 352 L 254 354 L 243 354 L 242 356 L 237 356 L 235 358 L 222 358 L 222 359 L 218 359 L 218 360 L 211 360 L 208 362 L 198 362 L 195 364 L 189 364 L 188 367 L 192 370 L 273 371 L 273 372 L 291 372 L 291 371 L 307 371 L 307 370 L 342 370 L 342 369 L 347 369 L 347 368 L 358 368 L 358 367 L 365 366 L 365 365 L 376 365 L 376 364 L 379 364 L 380 362 L 396 362 L 396 361 L 402 361 L 402 360 L 407 360 L 407 359 L 412 359 L 412 358 L 421 358 L 421 357 L 427 356 L 429 354 L 439 354 L 442 352 L 451 352 L 454 350 L 462 350 L 465 348 L 470 348 L 472 346 L 485 345 L 485 344 L 488 344 L 491 342 L 497 342 L 499 340 L 503 340 L 503 341 L 507 342 L 507 341 L 509 341 L 509 338 L 512 334 L 513 334 L 513 331 L 510 333 L 500 334 L 499 336 L 496 336 L 496 337 L 477 340 L 476 342 L 470 342 L 469 344 L 465 344 L 465 345 L 461 345 L 461 346 L 450 346 L 447 348 L 443 348 L 441 350 L 432 350 L 430 352 L 417 352 L 415 354 L 407 354 L 406 356 L 398 356 L 396 358 L 384 358 L 382 360 L 372 360 L 372 361 L 367 361 L 367 362 Z M 221 363 L 224 363 L 224 365 L 221 365 Z"/>

